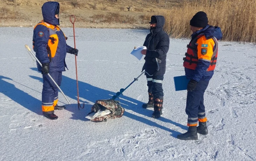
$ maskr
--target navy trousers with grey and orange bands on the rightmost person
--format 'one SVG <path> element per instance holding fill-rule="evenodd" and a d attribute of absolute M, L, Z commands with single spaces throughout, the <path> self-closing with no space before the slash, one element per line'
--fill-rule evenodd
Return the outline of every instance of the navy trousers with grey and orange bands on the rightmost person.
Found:
<path fill-rule="evenodd" d="M 200 80 L 197 83 L 196 89 L 192 92 L 187 93 L 187 105 L 186 113 L 188 115 L 188 124 L 187 126 L 196 126 L 197 121 L 205 122 L 207 121 L 205 114 L 205 107 L 203 104 L 203 95 L 209 81 Z"/>

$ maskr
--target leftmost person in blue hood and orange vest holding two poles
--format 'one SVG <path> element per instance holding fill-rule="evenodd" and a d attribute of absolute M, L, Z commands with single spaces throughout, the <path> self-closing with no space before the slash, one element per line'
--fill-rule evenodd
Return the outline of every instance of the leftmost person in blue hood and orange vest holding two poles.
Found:
<path fill-rule="evenodd" d="M 43 76 L 42 112 L 48 119 L 58 119 L 54 110 L 64 109 L 58 106 L 58 87 L 47 75 L 48 73 L 60 86 L 62 71 L 67 68 L 66 53 L 78 55 L 78 49 L 67 45 L 67 37 L 60 29 L 60 4 L 58 2 L 45 2 L 42 6 L 43 20 L 34 27 L 33 50 L 42 64 L 37 64 Z"/>

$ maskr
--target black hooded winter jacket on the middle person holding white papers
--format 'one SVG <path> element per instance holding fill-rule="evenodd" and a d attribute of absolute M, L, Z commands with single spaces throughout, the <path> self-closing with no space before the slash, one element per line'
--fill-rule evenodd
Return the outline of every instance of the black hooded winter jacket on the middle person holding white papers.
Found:
<path fill-rule="evenodd" d="M 142 71 L 145 69 L 149 74 L 164 75 L 166 71 L 166 54 L 169 50 L 170 39 L 166 32 L 163 31 L 163 25 L 165 23 L 164 16 L 155 16 L 157 20 L 157 26 L 155 29 L 150 29 L 150 34 L 147 35 L 143 46 L 147 47 L 147 53 L 145 56 L 145 64 Z M 159 71 L 155 58 L 161 59 L 159 64 Z"/>

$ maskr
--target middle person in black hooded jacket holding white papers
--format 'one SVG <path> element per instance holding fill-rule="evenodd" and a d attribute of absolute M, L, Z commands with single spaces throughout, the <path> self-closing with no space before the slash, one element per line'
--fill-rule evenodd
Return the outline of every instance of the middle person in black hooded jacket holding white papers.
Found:
<path fill-rule="evenodd" d="M 148 82 L 149 101 L 143 104 L 143 108 L 154 107 L 153 118 L 159 118 L 163 109 L 163 75 L 166 71 L 166 54 L 169 50 L 170 39 L 166 32 L 163 31 L 165 23 L 164 16 L 151 16 L 150 33 L 147 35 L 143 46 L 147 49 L 141 51 L 145 56 L 145 64 L 142 71 L 145 70 Z M 157 71 L 156 58 L 160 59 L 159 70 Z M 160 62 L 159 61 L 159 62 Z"/>

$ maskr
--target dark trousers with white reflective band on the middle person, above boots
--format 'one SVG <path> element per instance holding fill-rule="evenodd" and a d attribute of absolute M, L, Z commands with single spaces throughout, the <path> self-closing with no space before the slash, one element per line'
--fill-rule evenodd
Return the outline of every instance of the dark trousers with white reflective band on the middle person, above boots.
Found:
<path fill-rule="evenodd" d="M 148 76 L 147 77 L 147 85 L 148 85 L 148 92 L 152 93 L 155 98 L 163 98 L 163 88 L 162 88 L 162 82 L 163 82 L 163 75 L 154 75 L 154 76 Z"/>

